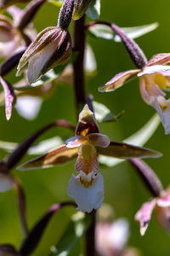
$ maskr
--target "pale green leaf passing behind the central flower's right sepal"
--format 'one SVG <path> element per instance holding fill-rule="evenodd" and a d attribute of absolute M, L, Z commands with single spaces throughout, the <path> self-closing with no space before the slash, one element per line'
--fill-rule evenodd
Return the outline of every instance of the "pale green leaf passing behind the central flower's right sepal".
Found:
<path fill-rule="evenodd" d="M 134 133 L 131 137 L 125 139 L 123 143 L 133 144 L 135 146 L 142 147 L 155 133 L 160 122 L 160 118 L 156 113 L 139 131 Z M 108 167 L 116 166 L 122 161 L 123 160 L 114 157 L 99 155 L 99 163 Z"/>

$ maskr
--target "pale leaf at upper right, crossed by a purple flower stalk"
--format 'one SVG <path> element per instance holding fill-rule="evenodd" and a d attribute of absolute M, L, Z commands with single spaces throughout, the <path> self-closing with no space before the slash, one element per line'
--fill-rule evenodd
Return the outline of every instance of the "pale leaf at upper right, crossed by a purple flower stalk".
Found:
<path fill-rule="evenodd" d="M 149 33 L 156 29 L 159 24 L 157 22 L 143 25 L 143 26 L 132 26 L 132 27 L 121 27 L 123 32 L 126 32 L 128 38 L 139 38 L 146 33 Z M 113 40 L 115 42 L 121 42 L 121 38 L 112 31 L 110 26 L 96 24 L 95 26 L 90 26 L 88 31 L 95 38 L 103 38 L 106 40 Z"/>

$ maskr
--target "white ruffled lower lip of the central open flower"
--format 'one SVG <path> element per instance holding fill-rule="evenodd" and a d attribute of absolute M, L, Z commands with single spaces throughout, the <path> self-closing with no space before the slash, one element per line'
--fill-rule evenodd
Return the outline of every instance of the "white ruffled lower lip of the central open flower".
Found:
<path fill-rule="evenodd" d="M 80 183 L 79 178 L 85 178 L 83 177 L 85 174 L 80 172 L 77 177 L 72 174 L 67 188 L 68 195 L 74 198 L 77 203 L 77 210 L 88 213 L 92 212 L 93 209 L 98 209 L 104 200 L 104 181 L 101 173 L 99 172 L 97 175 L 90 174 L 93 176 L 94 181 L 88 187 Z M 90 179 L 90 177 L 87 178 L 88 180 Z"/>

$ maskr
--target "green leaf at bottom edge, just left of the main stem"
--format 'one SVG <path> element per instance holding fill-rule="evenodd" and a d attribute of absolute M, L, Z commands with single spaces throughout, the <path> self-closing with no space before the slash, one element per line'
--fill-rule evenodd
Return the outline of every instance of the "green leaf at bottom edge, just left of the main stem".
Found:
<path fill-rule="evenodd" d="M 49 256 L 67 256 L 67 255 L 80 255 L 73 253 L 77 242 L 80 241 L 86 230 L 91 224 L 91 216 L 82 212 L 77 212 L 72 216 L 71 222 L 65 230 L 64 235 L 60 238 L 56 246 L 51 248 Z"/>

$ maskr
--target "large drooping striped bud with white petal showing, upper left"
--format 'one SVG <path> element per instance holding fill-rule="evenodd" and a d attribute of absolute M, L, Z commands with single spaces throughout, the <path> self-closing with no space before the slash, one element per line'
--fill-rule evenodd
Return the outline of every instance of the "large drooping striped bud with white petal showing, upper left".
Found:
<path fill-rule="evenodd" d="M 49 69 L 65 63 L 71 55 L 70 33 L 58 26 L 44 29 L 30 44 L 18 66 L 17 76 L 28 68 L 30 84 L 48 72 Z"/>

